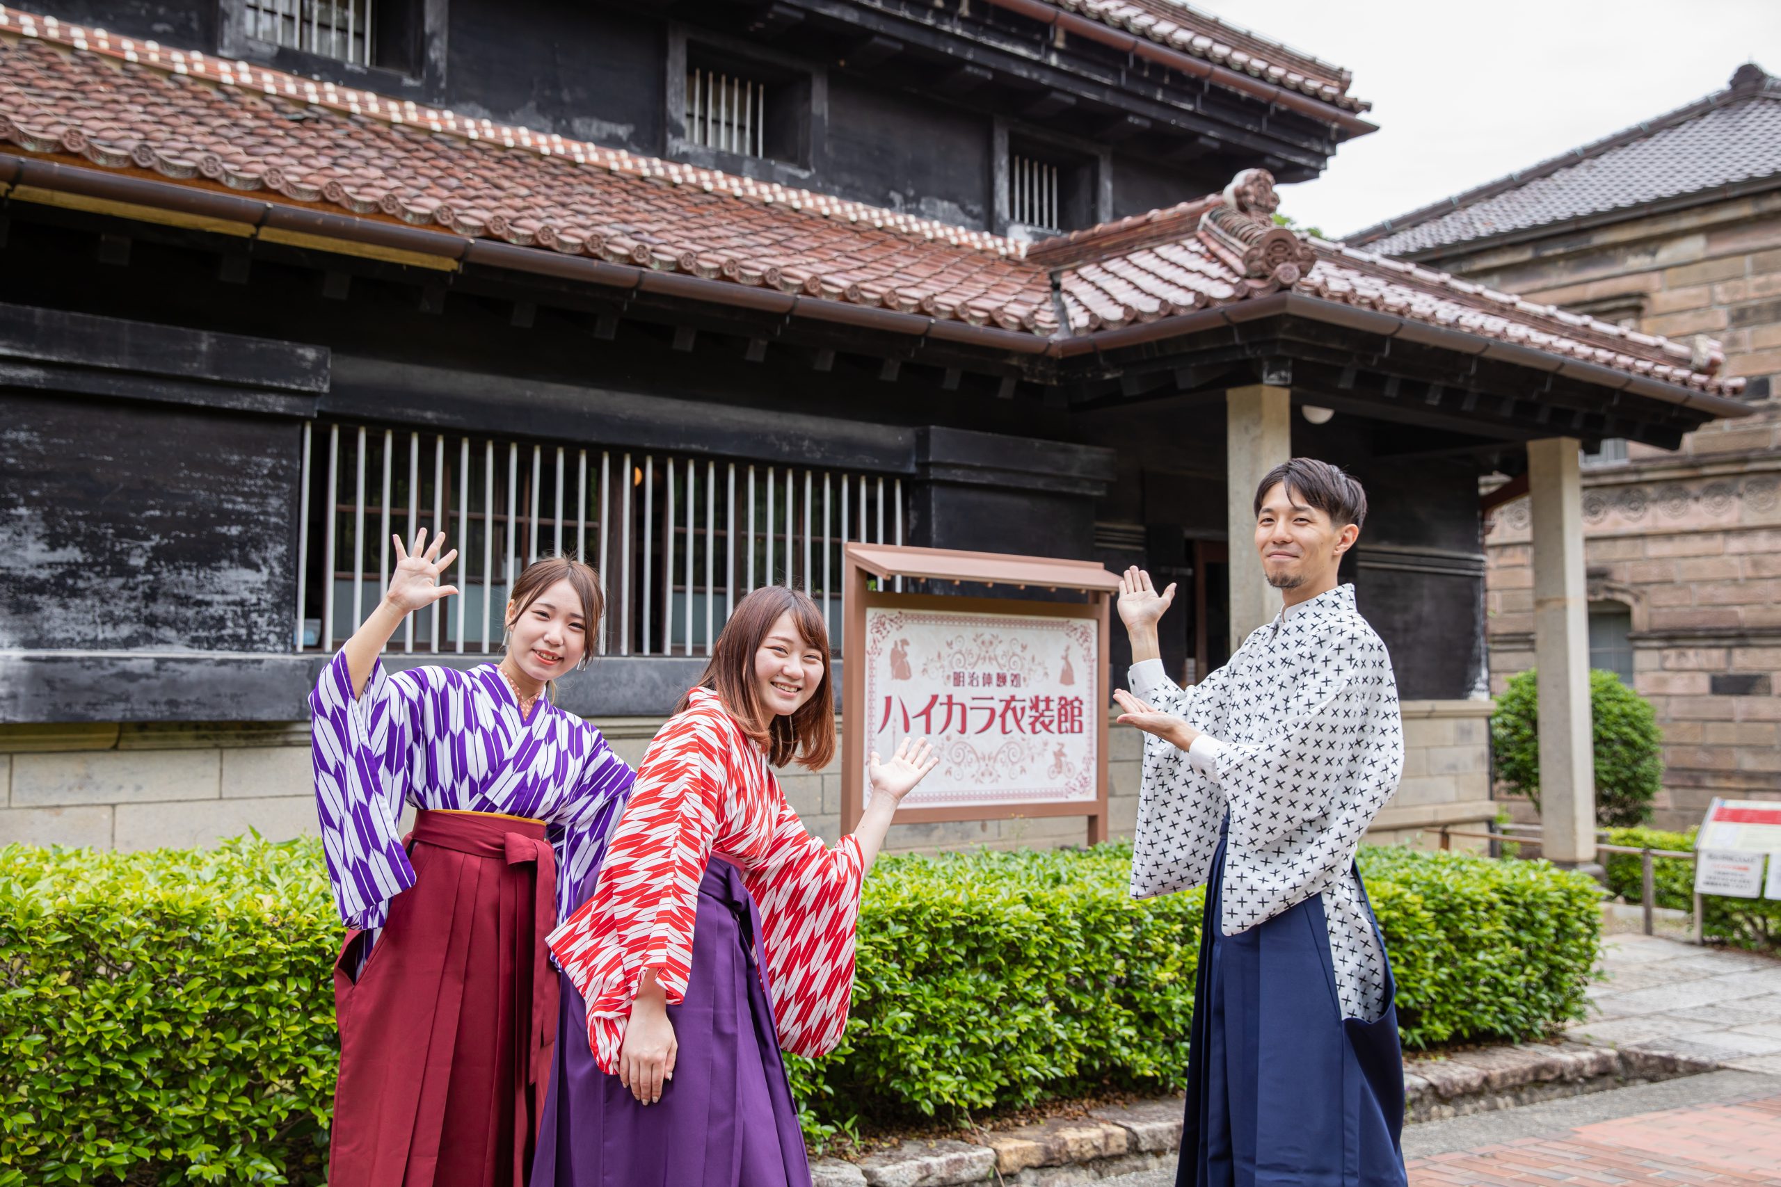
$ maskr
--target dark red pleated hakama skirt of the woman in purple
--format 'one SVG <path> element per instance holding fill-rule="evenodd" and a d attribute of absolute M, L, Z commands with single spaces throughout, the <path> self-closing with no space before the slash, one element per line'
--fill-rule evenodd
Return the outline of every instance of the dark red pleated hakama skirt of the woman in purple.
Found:
<path fill-rule="evenodd" d="M 556 854 L 536 820 L 454 812 L 420 812 L 408 852 L 370 957 L 354 929 L 335 961 L 328 1183 L 522 1187 L 556 1043 Z"/>

